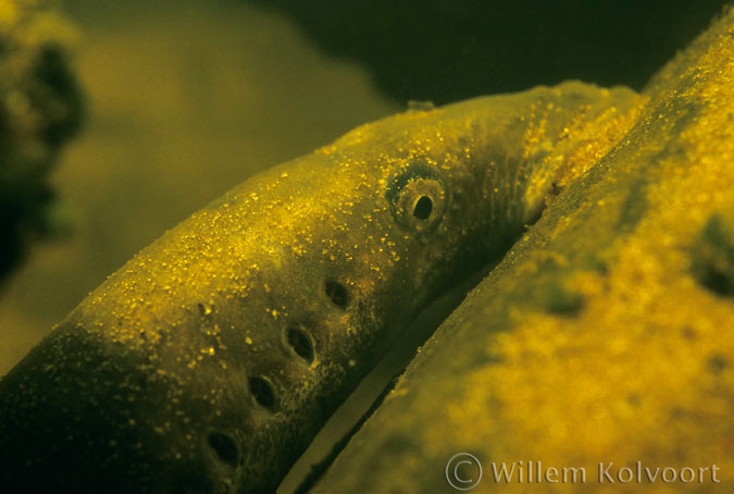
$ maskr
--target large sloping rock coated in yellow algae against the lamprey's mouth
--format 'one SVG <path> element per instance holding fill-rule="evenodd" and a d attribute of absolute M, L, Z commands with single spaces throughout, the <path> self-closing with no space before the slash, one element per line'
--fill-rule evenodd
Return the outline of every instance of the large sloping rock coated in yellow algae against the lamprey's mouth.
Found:
<path fill-rule="evenodd" d="M 425 344 L 315 492 L 731 490 L 733 83 L 730 9 Z"/>

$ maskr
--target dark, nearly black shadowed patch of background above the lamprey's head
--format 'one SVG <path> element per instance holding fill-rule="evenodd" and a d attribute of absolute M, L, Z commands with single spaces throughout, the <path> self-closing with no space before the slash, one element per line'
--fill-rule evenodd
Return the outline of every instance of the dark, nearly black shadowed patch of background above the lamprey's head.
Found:
<path fill-rule="evenodd" d="M 445 103 L 570 78 L 640 89 L 721 0 L 252 0 L 325 52 L 366 64 L 399 100 Z"/>

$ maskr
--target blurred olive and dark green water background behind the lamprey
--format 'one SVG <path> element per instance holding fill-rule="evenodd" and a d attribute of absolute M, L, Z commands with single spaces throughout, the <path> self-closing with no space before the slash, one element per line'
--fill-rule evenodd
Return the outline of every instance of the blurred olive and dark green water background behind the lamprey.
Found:
<path fill-rule="evenodd" d="M 136 251 L 264 168 L 408 99 L 568 78 L 639 89 L 723 4 L 581 3 L 66 1 L 86 121 L 50 177 L 55 234 L 4 283 L 0 375 Z"/>

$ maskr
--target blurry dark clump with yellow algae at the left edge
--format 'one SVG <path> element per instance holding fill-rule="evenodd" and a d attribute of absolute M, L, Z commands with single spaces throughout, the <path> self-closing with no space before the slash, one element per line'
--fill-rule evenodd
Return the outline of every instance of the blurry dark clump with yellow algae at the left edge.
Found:
<path fill-rule="evenodd" d="M 48 174 L 82 114 L 75 37 L 53 0 L 0 2 L 0 277 L 49 227 Z"/>

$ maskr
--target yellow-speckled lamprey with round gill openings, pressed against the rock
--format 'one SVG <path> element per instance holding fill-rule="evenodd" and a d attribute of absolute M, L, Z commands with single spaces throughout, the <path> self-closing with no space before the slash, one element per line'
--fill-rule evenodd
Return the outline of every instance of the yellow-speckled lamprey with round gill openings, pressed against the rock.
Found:
<path fill-rule="evenodd" d="M 0 487 L 274 490 L 407 321 L 505 252 L 637 102 L 565 83 L 409 111 L 236 187 L 0 381 Z"/>

